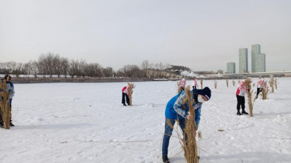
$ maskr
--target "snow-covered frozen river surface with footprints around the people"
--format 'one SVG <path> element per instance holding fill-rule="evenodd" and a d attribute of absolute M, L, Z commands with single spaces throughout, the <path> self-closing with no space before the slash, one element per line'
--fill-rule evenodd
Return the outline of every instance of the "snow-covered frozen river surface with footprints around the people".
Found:
<path fill-rule="evenodd" d="M 291 162 L 291 78 L 279 78 L 268 100 L 258 97 L 254 117 L 236 115 L 238 80 L 213 83 L 204 80 L 212 96 L 202 105 L 200 163 Z M 15 127 L 0 130 L 0 163 L 162 162 L 164 110 L 176 84 L 136 83 L 133 106 L 121 104 L 126 83 L 15 84 Z M 171 137 L 170 162 L 186 163 L 180 151 Z"/>

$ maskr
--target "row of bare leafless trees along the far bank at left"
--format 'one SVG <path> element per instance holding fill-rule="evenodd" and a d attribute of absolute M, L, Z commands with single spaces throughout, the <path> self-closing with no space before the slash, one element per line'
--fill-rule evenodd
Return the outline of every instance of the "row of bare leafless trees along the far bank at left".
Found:
<path fill-rule="evenodd" d="M 147 70 L 164 71 L 170 64 L 162 62 L 154 64 L 148 60 L 143 60 L 141 66 L 125 65 L 121 69 L 114 71 L 112 67 L 102 67 L 99 63 L 87 63 L 86 60 L 69 60 L 61 57 L 59 54 L 46 53 L 39 55 L 38 60 L 30 60 L 26 63 L 21 62 L 0 62 L 0 69 L 4 74 L 13 74 L 17 78 L 20 75 L 37 77 L 53 76 L 64 78 L 82 78 L 82 77 L 130 77 L 147 78 Z M 161 74 L 161 73 L 160 73 Z M 157 73 L 158 75 L 158 73 Z M 158 76 L 157 76 L 158 77 Z"/>

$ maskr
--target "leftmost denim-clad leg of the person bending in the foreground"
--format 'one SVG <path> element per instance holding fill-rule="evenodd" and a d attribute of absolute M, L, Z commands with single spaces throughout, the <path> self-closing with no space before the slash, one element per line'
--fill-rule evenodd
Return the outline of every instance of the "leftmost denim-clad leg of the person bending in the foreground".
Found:
<path fill-rule="evenodd" d="M 168 123 L 167 123 L 167 118 L 165 121 L 165 132 L 164 132 L 164 137 L 163 137 L 163 144 L 161 147 L 161 151 L 162 151 L 162 155 L 168 155 L 168 146 L 169 146 L 169 142 L 170 142 L 170 136 L 172 135 L 173 132 L 173 128 L 171 128 Z M 175 119 L 169 119 L 170 123 L 172 123 L 172 125 L 175 125 Z"/>

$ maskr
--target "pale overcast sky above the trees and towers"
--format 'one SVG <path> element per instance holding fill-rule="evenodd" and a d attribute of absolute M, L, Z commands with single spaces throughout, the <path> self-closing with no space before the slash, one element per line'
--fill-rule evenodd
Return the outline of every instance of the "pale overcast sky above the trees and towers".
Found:
<path fill-rule="evenodd" d="M 267 71 L 291 70 L 290 0 L 0 0 L 0 62 L 41 53 L 115 70 L 143 60 L 227 69 L 261 44 Z"/>

